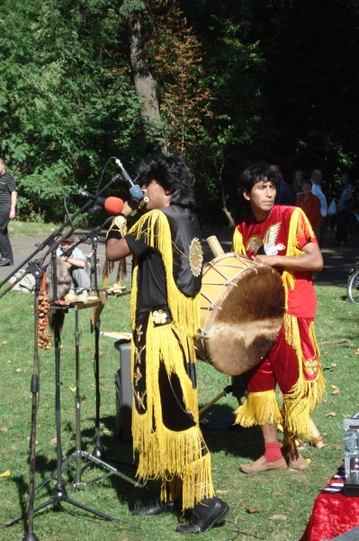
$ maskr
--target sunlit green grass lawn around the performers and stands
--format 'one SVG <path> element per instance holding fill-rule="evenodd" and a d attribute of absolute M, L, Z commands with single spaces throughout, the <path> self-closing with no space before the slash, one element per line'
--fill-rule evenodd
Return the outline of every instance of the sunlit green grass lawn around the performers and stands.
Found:
<path fill-rule="evenodd" d="M 314 412 L 314 421 L 326 440 L 326 446 L 316 449 L 307 446 L 302 454 L 310 458 L 306 472 L 267 472 L 246 476 L 239 472 L 239 464 L 256 459 L 262 454 L 262 439 L 255 428 L 224 428 L 204 430 L 212 453 L 213 477 L 218 495 L 229 502 L 230 514 L 223 527 L 202 536 L 206 540 L 241 541 L 268 539 L 270 541 L 298 541 L 310 518 L 318 490 L 337 471 L 344 457 L 343 419 L 359 410 L 357 374 L 359 364 L 358 314 L 359 307 L 346 299 L 346 286 L 316 286 L 319 308 L 317 335 L 327 380 L 327 392 L 322 405 Z M 22 514 L 22 499 L 29 490 L 29 436 L 31 431 L 31 374 L 33 371 L 33 296 L 10 291 L 0 300 L 0 524 Z M 94 335 L 90 333 L 89 310 L 79 312 L 80 325 L 80 395 L 82 448 L 94 449 Z M 105 331 L 128 331 L 129 297 L 108 298 L 101 316 Z M 69 310 L 61 340 L 61 436 L 65 457 L 74 452 L 76 441 L 76 356 L 75 314 Z M 103 460 L 116 462 L 119 472 L 132 477 L 130 445 L 116 436 L 116 400 L 114 376 L 120 363 L 114 340 L 100 339 L 101 438 L 105 454 Z M 38 485 L 56 470 L 56 424 L 54 413 L 55 375 L 54 349 L 40 350 L 40 400 L 37 417 L 36 480 Z M 229 376 L 213 366 L 197 364 L 200 407 L 217 396 L 230 384 Z M 206 414 L 207 417 L 229 413 L 236 408 L 231 394 L 220 399 Z M 100 471 L 101 472 L 101 471 Z M 93 479 L 94 468 L 84 473 L 83 480 Z M 64 479 L 67 480 L 67 472 Z M 35 505 L 49 500 L 55 487 L 54 479 L 36 492 Z M 157 518 L 132 517 L 130 510 L 141 502 L 157 496 L 157 485 L 150 491 L 134 486 L 121 476 L 112 475 L 94 482 L 84 490 L 73 489 L 67 483 L 67 495 L 98 509 L 121 522 L 95 518 L 92 513 L 63 502 L 61 510 L 52 503 L 34 514 L 34 533 L 41 541 L 165 541 L 181 538 L 175 533 L 177 518 L 161 515 Z M 25 508 L 26 504 L 25 504 Z M 25 528 L 25 529 L 24 529 Z M 23 521 L 1 530 L 0 538 L 12 541 L 22 538 L 26 530 Z"/>

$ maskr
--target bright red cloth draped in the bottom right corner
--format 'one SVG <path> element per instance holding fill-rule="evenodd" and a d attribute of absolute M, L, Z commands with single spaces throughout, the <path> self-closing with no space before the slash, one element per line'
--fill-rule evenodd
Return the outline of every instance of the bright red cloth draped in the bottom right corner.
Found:
<path fill-rule="evenodd" d="M 332 479 L 333 482 L 343 482 Z M 310 522 L 300 541 L 322 541 L 333 539 L 359 526 L 359 496 L 345 496 L 341 492 L 321 492 L 317 496 Z"/>

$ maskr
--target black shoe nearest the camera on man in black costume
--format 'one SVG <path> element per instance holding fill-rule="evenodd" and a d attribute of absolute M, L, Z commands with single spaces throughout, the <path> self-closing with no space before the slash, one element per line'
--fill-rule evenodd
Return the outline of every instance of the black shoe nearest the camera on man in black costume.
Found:
<path fill-rule="evenodd" d="M 193 507 L 189 522 L 175 529 L 183 534 L 202 534 L 213 526 L 221 524 L 229 512 L 229 505 L 220 498 L 202 500 Z"/>

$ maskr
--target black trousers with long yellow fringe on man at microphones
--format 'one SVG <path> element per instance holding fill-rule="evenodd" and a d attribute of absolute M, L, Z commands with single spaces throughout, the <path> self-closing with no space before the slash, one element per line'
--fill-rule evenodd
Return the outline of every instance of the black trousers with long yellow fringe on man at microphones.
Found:
<path fill-rule="evenodd" d="M 145 358 L 138 362 L 136 339 L 132 354 L 132 378 L 146 375 L 146 408 L 139 407 L 142 399 L 136 396 L 135 390 L 132 409 L 133 449 L 139 453 L 137 475 L 142 481 L 161 479 L 162 500 L 182 498 L 183 509 L 192 509 L 203 498 L 214 496 L 211 454 L 198 421 L 198 393 L 185 370 L 188 360 L 195 359 L 193 341 L 172 325 L 154 326 L 150 315 Z M 133 371 L 134 366 L 140 366 L 139 370 Z M 161 367 L 165 367 L 169 382 L 175 376 L 180 383 L 182 396 L 179 399 L 188 417 L 187 429 L 169 429 L 164 424 L 166 402 L 159 384 Z"/>

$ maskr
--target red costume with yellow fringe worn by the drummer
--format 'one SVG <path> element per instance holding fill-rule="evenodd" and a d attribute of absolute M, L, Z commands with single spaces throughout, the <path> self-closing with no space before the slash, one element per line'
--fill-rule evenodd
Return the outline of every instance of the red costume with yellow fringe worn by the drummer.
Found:
<path fill-rule="evenodd" d="M 295 256 L 307 243 L 317 243 L 307 216 L 300 208 L 274 206 L 261 223 L 253 215 L 240 222 L 233 236 L 234 252 L 249 259 L 259 253 Z M 247 397 L 237 410 L 242 426 L 280 423 L 284 445 L 294 436 L 312 439 L 311 412 L 322 398 L 325 384 L 314 332 L 317 306 L 311 272 L 281 272 L 285 290 L 283 326 L 265 359 L 247 372 Z M 275 386 L 283 393 L 282 410 Z"/>

